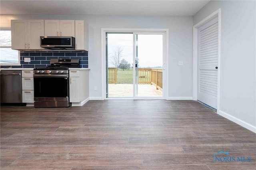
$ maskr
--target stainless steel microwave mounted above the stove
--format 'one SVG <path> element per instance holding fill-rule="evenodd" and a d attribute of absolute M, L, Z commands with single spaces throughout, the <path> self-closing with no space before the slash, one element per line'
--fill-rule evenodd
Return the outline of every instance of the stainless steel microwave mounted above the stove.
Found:
<path fill-rule="evenodd" d="M 40 46 L 48 49 L 75 49 L 74 37 L 40 36 Z"/>

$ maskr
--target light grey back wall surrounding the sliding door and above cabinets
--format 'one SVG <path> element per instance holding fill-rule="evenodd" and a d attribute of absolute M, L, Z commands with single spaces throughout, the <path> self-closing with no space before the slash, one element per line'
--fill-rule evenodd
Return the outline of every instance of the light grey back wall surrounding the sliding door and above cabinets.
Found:
<path fill-rule="evenodd" d="M 89 24 L 90 98 L 102 97 L 101 28 L 169 29 L 169 99 L 192 98 L 192 17 L 129 17 L 82 15 L 2 15 L 1 26 L 10 19 L 85 20 Z M 152 49 L 149 49 L 152 50 Z M 178 66 L 183 60 L 184 65 Z M 98 90 L 94 91 L 94 86 Z"/>

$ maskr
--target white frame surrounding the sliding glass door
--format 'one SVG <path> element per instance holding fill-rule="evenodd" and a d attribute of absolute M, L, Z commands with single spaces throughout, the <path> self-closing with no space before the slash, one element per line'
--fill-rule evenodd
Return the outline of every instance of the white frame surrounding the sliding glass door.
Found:
<path fill-rule="evenodd" d="M 131 97 L 131 98 L 106 98 L 106 33 L 161 33 L 163 36 L 163 89 L 164 93 L 162 97 Z M 166 99 L 168 96 L 168 51 L 169 51 L 169 29 L 126 29 L 126 28 L 102 28 L 101 29 L 101 54 L 102 54 L 102 100 L 104 99 Z M 134 42 L 135 43 L 135 42 Z"/>

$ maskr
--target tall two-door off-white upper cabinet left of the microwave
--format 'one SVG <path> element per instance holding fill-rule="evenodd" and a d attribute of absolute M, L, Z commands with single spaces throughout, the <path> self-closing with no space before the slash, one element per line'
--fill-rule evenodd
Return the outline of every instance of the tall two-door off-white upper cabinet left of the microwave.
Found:
<path fill-rule="evenodd" d="M 12 49 L 42 49 L 44 20 L 11 20 Z"/>

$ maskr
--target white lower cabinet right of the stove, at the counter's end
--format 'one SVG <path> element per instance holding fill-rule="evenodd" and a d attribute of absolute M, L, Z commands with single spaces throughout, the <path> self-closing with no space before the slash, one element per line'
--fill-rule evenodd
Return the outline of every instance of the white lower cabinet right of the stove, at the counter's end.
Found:
<path fill-rule="evenodd" d="M 81 106 L 89 99 L 89 70 L 69 70 L 69 76 L 69 100 Z"/>

